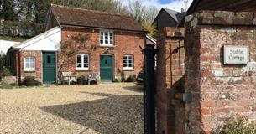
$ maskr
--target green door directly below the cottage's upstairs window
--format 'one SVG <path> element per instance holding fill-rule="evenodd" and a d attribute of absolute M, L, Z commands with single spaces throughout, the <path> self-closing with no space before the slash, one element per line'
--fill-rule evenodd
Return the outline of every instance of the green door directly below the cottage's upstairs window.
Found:
<path fill-rule="evenodd" d="M 112 55 L 101 55 L 101 80 L 112 81 Z"/>

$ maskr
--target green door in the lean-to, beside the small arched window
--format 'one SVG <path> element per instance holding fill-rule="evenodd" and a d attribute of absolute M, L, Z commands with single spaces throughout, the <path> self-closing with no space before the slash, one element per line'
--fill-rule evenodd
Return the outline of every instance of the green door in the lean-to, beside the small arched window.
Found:
<path fill-rule="evenodd" d="M 56 82 L 56 55 L 55 52 L 43 53 L 43 83 Z"/>

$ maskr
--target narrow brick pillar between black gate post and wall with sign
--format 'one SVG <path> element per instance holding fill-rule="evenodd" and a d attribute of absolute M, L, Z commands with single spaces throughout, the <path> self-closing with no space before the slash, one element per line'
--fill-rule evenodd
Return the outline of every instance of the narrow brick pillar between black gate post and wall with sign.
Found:
<path fill-rule="evenodd" d="M 180 80 L 184 75 L 185 50 L 180 48 L 179 53 L 175 49 L 179 47 L 179 40 L 175 38 L 177 32 L 184 35 L 184 28 L 164 28 L 158 32 L 157 49 L 157 133 L 184 133 L 184 103 L 180 95 L 183 83 Z M 184 46 L 180 39 L 180 46 Z M 178 52 L 178 51 L 177 51 Z M 181 65 L 181 66 L 180 66 Z"/>

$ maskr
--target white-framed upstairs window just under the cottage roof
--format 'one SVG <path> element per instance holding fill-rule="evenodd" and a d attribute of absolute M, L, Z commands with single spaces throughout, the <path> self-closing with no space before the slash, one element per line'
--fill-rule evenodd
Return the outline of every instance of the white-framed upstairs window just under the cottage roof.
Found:
<path fill-rule="evenodd" d="M 112 46 L 113 45 L 113 32 L 112 31 L 101 30 L 100 45 L 101 46 Z"/>

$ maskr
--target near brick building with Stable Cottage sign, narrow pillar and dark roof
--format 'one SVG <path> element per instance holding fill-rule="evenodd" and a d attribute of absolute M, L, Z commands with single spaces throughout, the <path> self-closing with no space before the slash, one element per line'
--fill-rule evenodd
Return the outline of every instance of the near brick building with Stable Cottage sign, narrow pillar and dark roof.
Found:
<path fill-rule="evenodd" d="M 158 134 L 212 133 L 235 116 L 256 123 L 255 12 L 254 0 L 194 0 L 184 28 L 161 29 Z M 227 47 L 247 48 L 248 61 L 226 64 Z"/>

